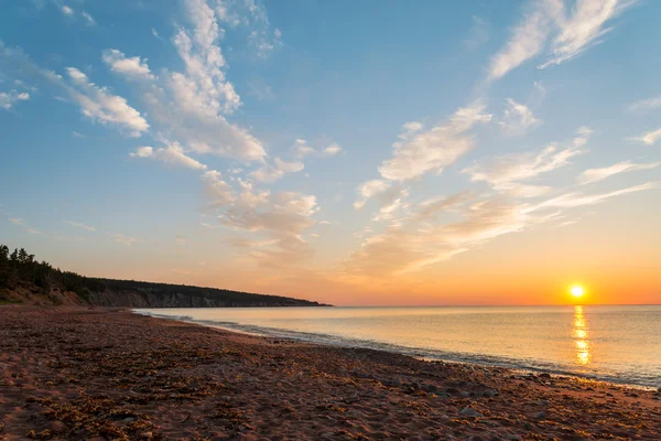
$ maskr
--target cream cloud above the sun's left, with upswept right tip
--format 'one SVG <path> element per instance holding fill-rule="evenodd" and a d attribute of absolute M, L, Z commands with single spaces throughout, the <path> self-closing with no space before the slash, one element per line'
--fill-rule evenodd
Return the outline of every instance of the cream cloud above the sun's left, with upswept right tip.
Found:
<path fill-rule="evenodd" d="M 585 153 L 583 148 L 587 143 L 590 133 L 590 129 L 582 127 L 578 129 L 576 137 L 564 148 L 553 143 L 538 153 L 505 154 L 492 160 L 477 161 L 462 172 L 470 175 L 470 181 L 488 182 L 497 191 L 514 192 L 519 193 L 519 196 L 534 197 L 546 193 L 550 189 L 521 186 L 519 181 L 530 180 L 567 165 L 573 157 Z"/>

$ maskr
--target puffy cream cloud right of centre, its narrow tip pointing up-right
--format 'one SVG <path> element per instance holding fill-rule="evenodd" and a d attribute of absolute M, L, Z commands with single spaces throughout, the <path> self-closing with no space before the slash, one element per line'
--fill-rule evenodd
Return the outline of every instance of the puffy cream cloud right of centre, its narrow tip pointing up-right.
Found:
<path fill-rule="evenodd" d="M 402 182 L 430 171 L 443 171 L 475 144 L 473 137 L 464 132 L 476 123 L 491 120 L 491 115 L 484 114 L 485 107 L 475 103 L 459 108 L 448 123 L 426 131 L 422 131 L 420 123 L 404 126 L 400 141 L 392 144 L 392 158 L 381 163 L 379 173 L 387 180 Z"/>

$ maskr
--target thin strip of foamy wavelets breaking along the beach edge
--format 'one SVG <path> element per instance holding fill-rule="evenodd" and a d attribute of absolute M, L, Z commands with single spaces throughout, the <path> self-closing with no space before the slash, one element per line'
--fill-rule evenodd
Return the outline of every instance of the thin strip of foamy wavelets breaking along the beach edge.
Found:
<path fill-rule="evenodd" d="M 507 358 L 507 357 L 497 357 L 497 356 L 488 356 L 480 354 L 466 354 L 466 353 L 455 353 L 455 352 L 446 352 L 446 351 L 434 351 L 434 349 L 425 349 L 418 347 L 408 347 L 400 346 L 390 343 L 379 342 L 379 341 L 370 341 L 370 340 L 359 340 L 359 338 L 345 338 L 336 335 L 322 334 L 322 333 L 308 333 L 308 332 L 296 332 L 289 331 L 278 327 L 267 327 L 267 326 L 254 326 L 254 325 L 242 325 L 236 322 L 223 322 L 215 320 L 195 320 L 189 315 L 167 315 L 167 314 L 159 314 L 143 310 L 131 310 L 136 314 L 148 315 L 155 319 L 169 319 L 175 320 L 180 322 L 197 324 L 207 327 L 214 327 L 230 332 L 237 332 L 253 336 L 263 336 L 263 337 L 277 337 L 277 338 L 290 338 L 304 343 L 312 344 L 322 344 L 322 345 L 332 345 L 332 346 L 340 346 L 340 347 L 351 347 L 351 348 L 366 348 L 366 349 L 376 349 L 376 351 L 384 351 L 391 352 L 402 355 L 412 356 L 415 358 L 422 358 L 426 361 L 440 361 L 440 362 L 448 362 L 448 363 L 464 363 L 464 364 L 475 364 L 481 366 L 490 366 L 490 367 L 505 367 L 512 370 L 523 372 L 523 373 L 548 373 L 557 376 L 566 376 L 566 377 L 577 377 L 584 379 L 593 379 L 598 381 L 607 381 L 621 386 L 629 386 L 639 389 L 657 389 L 658 378 L 655 377 L 641 377 L 641 378 L 622 378 L 617 375 L 605 375 L 605 374 L 586 374 L 572 372 L 560 368 L 557 365 L 551 363 L 542 363 L 540 361 L 525 359 L 525 358 Z"/>

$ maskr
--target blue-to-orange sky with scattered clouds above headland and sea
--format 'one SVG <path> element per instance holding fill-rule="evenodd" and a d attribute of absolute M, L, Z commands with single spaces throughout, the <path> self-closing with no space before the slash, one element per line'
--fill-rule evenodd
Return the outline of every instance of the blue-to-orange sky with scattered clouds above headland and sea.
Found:
<path fill-rule="evenodd" d="M 659 17 L 4 0 L 0 243 L 340 305 L 659 303 Z"/>

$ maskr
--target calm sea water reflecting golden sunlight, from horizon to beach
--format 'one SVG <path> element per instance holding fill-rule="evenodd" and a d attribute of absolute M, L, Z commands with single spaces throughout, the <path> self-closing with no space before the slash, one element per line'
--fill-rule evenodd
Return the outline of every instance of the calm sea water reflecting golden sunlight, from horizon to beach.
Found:
<path fill-rule="evenodd" d="M 136 312 L 278 337 L 661 387 L 661 306 L 237 308 Z"/>

